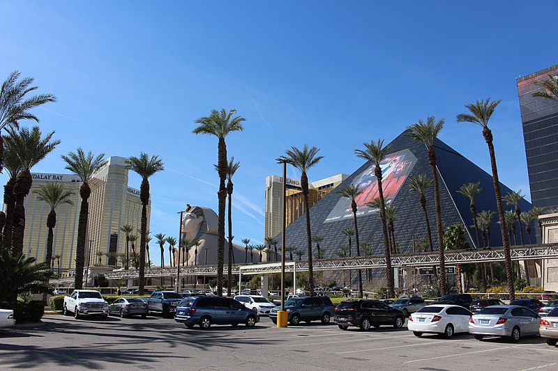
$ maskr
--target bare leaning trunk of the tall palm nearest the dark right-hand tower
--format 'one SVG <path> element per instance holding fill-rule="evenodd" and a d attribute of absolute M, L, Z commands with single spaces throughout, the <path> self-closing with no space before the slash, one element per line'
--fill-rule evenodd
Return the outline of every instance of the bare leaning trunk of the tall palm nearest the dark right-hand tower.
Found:
<path fill-rule="evenodd" d="M 488 144 L 488 152 L 490 154 L 490 166 L 492 167 L 492 181 L 494 182 L 494 193 L 496 196 L 496 206 L 498 210 L 498 220 L 502 231 L 502 246 L 504 247 L 504 259 L 506 262 L 506 281 L 508 283 L 508 291 L 510 301 L 515 300 L 515 287 L 513 287 L 513 266 L 511 264 L 510 246 L 506 236 L 506 219 L 504 219 L 504 208 L 502 207 L 502 192 L 500 191 L 500 182 L 498 180 L 498 168 L 496 166 L 496 155 L 494 145 L 492 144 L 492 132 L 488 127 L 484 127 L 483 136 Z"/>

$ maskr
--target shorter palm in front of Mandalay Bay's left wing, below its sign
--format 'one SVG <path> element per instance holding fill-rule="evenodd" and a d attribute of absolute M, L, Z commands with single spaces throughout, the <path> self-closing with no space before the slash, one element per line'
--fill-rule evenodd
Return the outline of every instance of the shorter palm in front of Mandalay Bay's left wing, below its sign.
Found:
<path fill-rule="evenodd" d="M 73 205 L 70 197 L 74 196 L 74 191 L 64 191 L 61 183 L 48 182 L 40 186 L 39 189 L 33 191 L 37 195 L 37 200 L 43 201 L 50 206 L 50 212 L 47 216 L 47 255 L 45 262 L 50 262 L 52 258 L 52 245 L 54 243 L 54 227 L 56 227 L 56 207 L 61 204 Z M 60 265 L 60 260 L 59 260 Z"/>

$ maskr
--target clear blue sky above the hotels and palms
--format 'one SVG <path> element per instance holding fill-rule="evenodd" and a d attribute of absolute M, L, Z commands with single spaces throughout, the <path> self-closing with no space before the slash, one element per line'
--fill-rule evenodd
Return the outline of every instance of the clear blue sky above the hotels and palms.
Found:
<path fill-rule="evenodd" d="M 291 145 L 322 148 L 309 173 L 318 180 L 355 171 L 365 141 L 445 117 L 440 139 L 490 171 L 481 129 L 455 122 L 488 96 L 503 100 L 491 122 L 500 180 L 529 199 L 515 79 L 558 63 L 548 16 L 558 3 L 462 4 L 0 1 L 0 79 L 20 70 L 59 99 L 35 113 L 62 143 L 32 171 L 65 172 L 60 156 L 78 146 L 160 155 L 153 233 L 178 235 L 186 203 L 216 210 L 217 140 L 192 129 L 222 107 L 246 118 L 244 132 L 227 138 L 241 161 L 236 242 L 262 242 L 265 177 L 280 174 L 274 159 Z"/>

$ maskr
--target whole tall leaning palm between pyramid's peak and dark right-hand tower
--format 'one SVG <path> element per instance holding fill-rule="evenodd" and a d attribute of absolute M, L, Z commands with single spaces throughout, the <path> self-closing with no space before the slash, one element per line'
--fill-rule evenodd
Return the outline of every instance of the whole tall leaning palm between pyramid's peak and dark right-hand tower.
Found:
<path fill-rule="evenodd" d="M 490 155 L 490 166 L 492 167 L 492 181 L 494 182 L 496 207 L 498 210 L 500 230 L 502 232 L 502 246 L 504 247 L 504 260 L 506 263 L 506 281 L 508 283 L 510 300 L 515 300 L 515 288 L 513 287 L 513 266 L 511 263 L 508 236 L 506 235 L 506 221 L 504 219 L 504 208 L 502 207 L 502 193 L 500 191 L 500 181 L 498 179 L 498 168 L 496 166 L 494 144 L 492 143 L 492 131 L 488 128 L 490 116 L 492 116 L 492 113 L 494 113 L 494 110 L 500 102 L 502 102 L 502 100 L 491 101 L 489 97 L 485 101 L 477 100 L 476 103 L 467 104 L 465 107 L 470 113 L 460 113 L 457 116 L 457 120 L 458 123 L 474 123 L 483 128 L 483 136 L 486 144 L 488 145 L 488 153 Z"/>

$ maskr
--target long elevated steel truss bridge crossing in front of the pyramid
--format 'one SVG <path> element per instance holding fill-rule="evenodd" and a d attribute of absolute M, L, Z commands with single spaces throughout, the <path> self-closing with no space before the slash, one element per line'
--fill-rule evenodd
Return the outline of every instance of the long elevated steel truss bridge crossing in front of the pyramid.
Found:
<path fill-rule="evenodd" d="M 557 244 L 511 246 L 511 260 L 534 260 L 558 258 Z M 502 262 L 504 261 L 503 248 L 488 248 L 478 250 L 445 251 L 446 265 L 472 264 L 476 262 Z M 431 267 L 438 265 L 438 253 L 406 253 L 393 255 L 391 257 L 392 267 Z M 383 256 L 361 256 L 341 259 L 322 259 L 313 262 L 314 271 L 333 271 L 340 269 L 375 269 L 385 268 L 386 260 Z M 225 272 L 227 267 L 225 266 Z M 248 265 L 234 265 L 232 274 L 252 275 L 271 274 L 281 271 L 280 262 L 254 263 Z M 295 260 L 285 262 L 285 271 L 308 271 L 308 261 Z M 209 265 L 194 265 L 180 267 L 180 276 L 216 276 L 217 267 Z M 138 278 L 137 270 L 112 271 L 105 273 L 109 280 Z M 176 268 L 146 269 L 146 277 L 176 277 Z M 59 283 L 73 281 L 73 278 L 62 278 L 56 280 Z M 54 281 L 53 281 L 54 283 Z"/>

